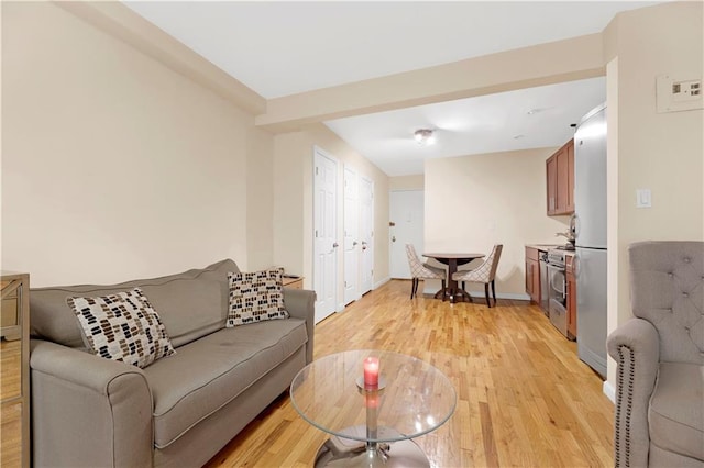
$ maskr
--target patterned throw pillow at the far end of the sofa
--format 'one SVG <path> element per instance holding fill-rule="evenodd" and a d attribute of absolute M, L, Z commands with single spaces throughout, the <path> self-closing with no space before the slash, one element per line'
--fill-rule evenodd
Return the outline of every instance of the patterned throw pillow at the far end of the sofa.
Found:
<path fill-rule="evenodd" d="M 246 323 L 288 319 L 282 291 L 283 268 L 255 272 L 229 272 L 229 328 Z"/>

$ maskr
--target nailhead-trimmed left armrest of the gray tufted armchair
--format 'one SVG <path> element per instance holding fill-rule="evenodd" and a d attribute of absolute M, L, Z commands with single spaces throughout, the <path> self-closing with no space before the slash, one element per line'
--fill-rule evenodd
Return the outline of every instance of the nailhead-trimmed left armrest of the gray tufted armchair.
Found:
<path fill-rule="evenodd" d="M 648 321 L 631 319 L 607 338 L 616 360 L 614 460 L 620 466 L 648 466 L 648 406 L 660 360 L 658 331 Z"/>

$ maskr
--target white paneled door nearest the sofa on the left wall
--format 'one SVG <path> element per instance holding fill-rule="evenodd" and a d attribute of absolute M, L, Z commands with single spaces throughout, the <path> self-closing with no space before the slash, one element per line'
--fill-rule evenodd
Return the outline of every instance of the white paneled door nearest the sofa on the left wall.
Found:
<path fill-rule="evenodd" d="M 338 163 L 315 149 L 314 174 L 314 285 L 317 293 L 316 323 L 336 311 L 337 303 L 337 193 Z"/>

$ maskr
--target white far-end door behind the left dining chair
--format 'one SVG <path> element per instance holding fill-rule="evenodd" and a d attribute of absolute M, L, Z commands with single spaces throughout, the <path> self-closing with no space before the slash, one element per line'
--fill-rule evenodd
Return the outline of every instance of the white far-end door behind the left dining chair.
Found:
<path fill-rule="evenodd" d="M 389 193 L 389 270 L 392 278 L 410 279 L 406 244 L 414 244 L 418 255 L 424 248 L 424 191 L 403 190 Z"/>

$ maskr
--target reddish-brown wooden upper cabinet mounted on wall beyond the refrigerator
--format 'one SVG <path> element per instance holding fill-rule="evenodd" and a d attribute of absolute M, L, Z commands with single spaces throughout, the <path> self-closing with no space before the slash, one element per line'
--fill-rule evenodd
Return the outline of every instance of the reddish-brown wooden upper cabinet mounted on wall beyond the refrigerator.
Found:
<path fill-rule="evenodd" d="M 548 215 L 574 213 L 574 140 L 546 160 Z"/>

